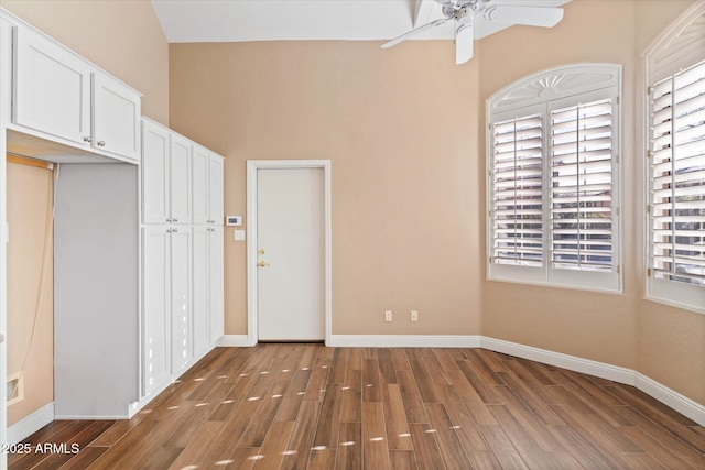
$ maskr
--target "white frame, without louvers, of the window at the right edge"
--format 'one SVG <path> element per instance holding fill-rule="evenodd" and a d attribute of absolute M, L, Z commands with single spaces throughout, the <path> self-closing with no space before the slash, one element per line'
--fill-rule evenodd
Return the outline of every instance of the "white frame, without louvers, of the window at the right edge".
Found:
<path fill-rule="evenodd" d="M 696 24 L 698 23 L 698 24 Z M 647 87 L 661 81 L 669 76 L 673 76 L 681 68 L 695 65 L 703 59 L 702 44 L 705 43 L 703 33 L 705 23 L 705 2 L 698 2 L 687 9 L 677 20 L 665 29 L 657 40 L 647 48 L 644 57 L 644 83 Z M 679 41 L 686 31 L 695 33 L 690 43 Z M 697 31 L 701 33 L 697 34 Z M 684 36 L 687 36 L 684 35 Z M 674 52 L 680 53 L 677 59 L 669 59 Z M 670 61 L 670 62 L 669 62 Z M 651 139 L 651 98 L 649 88 L 644 97 L 643 124 L 643 154 L 650 149 Z M 646 205 L 651 204 L 651 161 L 644 159 L 644 185 L 643 200 Z M 701 314 L 705 314 L 705 289 L 698 286 L 683 284 L 679 282 L 659 280 L 651 274 L 651 217 L 646 214 L 643 218 L 644 249 L 643 262 L 647 269 L 643 273 L 644 298 L 660 304 L 683 308 Z"/>

